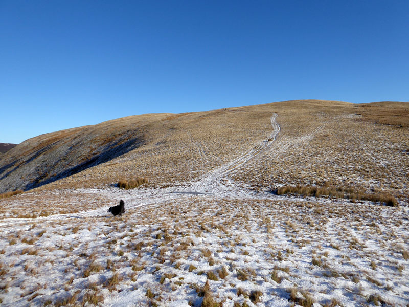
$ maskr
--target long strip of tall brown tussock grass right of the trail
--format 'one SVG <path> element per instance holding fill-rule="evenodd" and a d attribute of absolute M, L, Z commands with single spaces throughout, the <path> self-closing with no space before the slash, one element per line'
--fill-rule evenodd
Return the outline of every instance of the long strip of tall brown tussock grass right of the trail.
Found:
<path fill-rule="evenodd" d="M 298 194 L 303 196 L 331 196 L 334 198 L 344 198 L 350 200 L 362 200 L 362 201 L 371 201 L 374 203 L 381 203 L 387 206 L 396 207 L 398 202 L 395 197 L 389 193 L 373 193 L 368 194 L 363 191 L 358 191 L 352 188 L 344 187 L 317 187 L 317 186 L 308 186 L 308 185 L 287 185 L 282 186 L 277 189 L 278 195 L 285 194 Z"/>

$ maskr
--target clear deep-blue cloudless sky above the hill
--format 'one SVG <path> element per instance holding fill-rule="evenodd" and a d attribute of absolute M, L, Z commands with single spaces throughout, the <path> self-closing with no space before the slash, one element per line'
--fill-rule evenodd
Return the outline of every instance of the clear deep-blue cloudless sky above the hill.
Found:
<path fill-rule="evenodd" d="M 0 0 L 0 142 L 128 115 L 409 100 L 409 1 Z"/>

